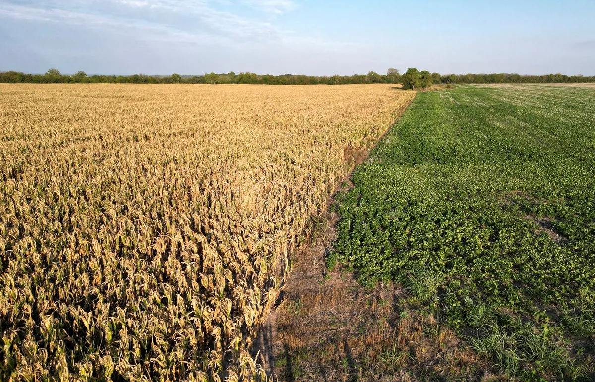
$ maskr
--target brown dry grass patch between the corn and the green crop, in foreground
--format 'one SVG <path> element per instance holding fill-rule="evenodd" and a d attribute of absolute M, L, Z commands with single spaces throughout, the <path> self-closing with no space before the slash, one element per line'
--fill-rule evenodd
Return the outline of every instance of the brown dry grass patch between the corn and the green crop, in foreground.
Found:
<path fill-rule="evenodd" d="M 338 216 L 327 213 L 297 251 L 270 330 L 268 372 L 278 381 L 509 380 L 398 285 L 367 289 L 326 273 Z"/>

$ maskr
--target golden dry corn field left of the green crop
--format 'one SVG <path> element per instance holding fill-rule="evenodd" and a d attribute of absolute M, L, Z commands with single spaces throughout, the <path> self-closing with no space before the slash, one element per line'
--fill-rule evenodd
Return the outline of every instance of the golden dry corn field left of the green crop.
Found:
<path fill-rule="evenodd" d="M 0 379 L 261 378 L 280 269 L 414 95 L 0 84 Z"/>

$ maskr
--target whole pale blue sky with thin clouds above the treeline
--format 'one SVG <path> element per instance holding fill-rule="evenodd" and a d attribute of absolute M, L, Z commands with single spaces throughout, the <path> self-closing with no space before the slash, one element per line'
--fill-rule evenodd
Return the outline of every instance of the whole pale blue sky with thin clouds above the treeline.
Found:
<path fill-rule="evenodd" d="M 595 0 L 0 0 L 0 71 L 595 75 Z"/>

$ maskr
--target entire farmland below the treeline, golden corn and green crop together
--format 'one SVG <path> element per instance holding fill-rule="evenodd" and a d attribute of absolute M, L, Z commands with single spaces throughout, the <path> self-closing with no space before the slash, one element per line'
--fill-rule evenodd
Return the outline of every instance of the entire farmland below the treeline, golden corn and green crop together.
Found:
<path fill-rule="evenodd" d="M 0 380 L 595 379 L 593 86 L 0 101 Z"/>

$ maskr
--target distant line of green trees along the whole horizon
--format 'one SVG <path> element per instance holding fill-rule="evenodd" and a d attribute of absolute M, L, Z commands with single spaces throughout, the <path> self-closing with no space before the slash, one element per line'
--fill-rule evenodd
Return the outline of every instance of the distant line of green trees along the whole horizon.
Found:
<path fill-rule="evenodd" d="M 414 79 L 411 79 L 411 76 Z M 421 82 L 416 82 L 419 76 Z M 359 83 L 409 83 L 411 88 L 427 87 L 429 84 L 456 84 L 456 83 L 580 83 L 595 82 L 595 76 L 566 76 L 564 74 L 546 74 L 543 76 L 521 76 L 520 74 L 494 73 L 494 74 L 446 74 L 430 73 L 409 69 L 407 73 L 400 74 L 396 69 L 389 69 L 386 74 L 374 71 L 368 74 L 355 74 L 353 76 L 303 76 L 295 74 L 255 73 L 209 73 L 204 76 L 148 76 L 134 74 L 133 76 L 87 76 L 84 71 L 73 75 L 61 74 L 56 69 L 50 69 L 45 74 L 26 74 L 17 71 L 0 72 L 2 83 L 208 83 L 208 84 L 269 84 L 269 85 L 309 85 L 309 84 L 359 84 Z"/>

